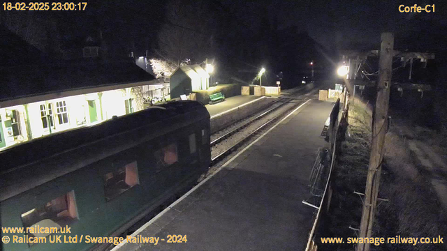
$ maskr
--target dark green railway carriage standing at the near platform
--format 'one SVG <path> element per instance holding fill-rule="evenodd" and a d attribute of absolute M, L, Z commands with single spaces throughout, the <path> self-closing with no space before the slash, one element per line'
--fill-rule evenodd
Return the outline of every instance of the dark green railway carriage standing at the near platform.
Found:
<path fill-rule="evenodd" d="M 27 234 L 47 243 L 10 250 L 91 250 L 85 236 L 117 236 L 197 181 L 210 165 L 210 114 L 172 102 L 0 152 L 1 227 L 63 227 Z M 84 240 L 80 242 L 80 236 Z M 50 243 L 62 236 L 63 243 Z M 78 243 L 64 243 L 78 236 Z"/>

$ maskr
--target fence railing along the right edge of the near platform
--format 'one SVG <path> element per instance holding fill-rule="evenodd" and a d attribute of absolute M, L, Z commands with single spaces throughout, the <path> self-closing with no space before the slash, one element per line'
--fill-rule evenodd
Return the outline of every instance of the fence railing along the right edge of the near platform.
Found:
<path fill-rule="evenodd" d="M 344 89 L 340 94 L 337 102 L 335 102 L 332 112 L 330 113 L 330 126 L 328 129 L 329 142 L 330 142 L 330 167 L 328 180 L 326 181 L 323 197 L 321 198 L 320 205 L 318 206 L 318 211 L 312 225 L 312 230 L 309 234 L 309 239 L 307 241 L 306 251 L 316 251 L 318 246 L 316 244 L 316 231 L 321 224 L 321 218 L 329 211 L 330 199 L 332 197 L 332 171 L 337 160 L 337 149 L 344 135 L 344 131 L 347 125 L 347 118 L 349 112 L 349 93 Z"/>

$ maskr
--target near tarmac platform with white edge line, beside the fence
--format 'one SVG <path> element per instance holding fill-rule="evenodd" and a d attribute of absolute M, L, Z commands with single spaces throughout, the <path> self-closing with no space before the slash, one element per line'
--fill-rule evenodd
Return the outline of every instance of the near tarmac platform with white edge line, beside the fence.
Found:
<path fill-rule="evenodd" d="M 307 100 L 113 250 L 304 250 L 309 175 L 332 102 Z M 168 235 L 186 243 L 168 243 Z M 139 239 L 141 240 L 141 239 Z"/>

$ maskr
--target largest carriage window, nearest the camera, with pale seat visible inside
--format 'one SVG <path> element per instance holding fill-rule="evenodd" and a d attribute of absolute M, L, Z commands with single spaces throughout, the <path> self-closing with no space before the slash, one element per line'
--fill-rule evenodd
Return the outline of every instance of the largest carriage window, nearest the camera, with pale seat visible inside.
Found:
<path fill-rule="evenodd" d="M 22 213 L 23 227 L 48 227 L 51 233 L 28 233 L 31 237 L 45 237 L 54 233 L 57 229 L 70 225 L 78 219 L 78 210 L 76 208 L 75 192 L 67 192 L 66 195 L 61 195 L 45 205 L 38 208 L 31 209 Z M 30 230 L 31 231 L 31 230 Z"/>

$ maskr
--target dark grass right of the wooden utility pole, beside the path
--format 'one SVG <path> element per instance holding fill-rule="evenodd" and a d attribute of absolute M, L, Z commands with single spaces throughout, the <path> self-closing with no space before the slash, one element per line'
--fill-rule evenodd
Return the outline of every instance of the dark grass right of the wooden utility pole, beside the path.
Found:
<path fill-rule="evenodd" d="M 447 215 L 432 189 L 430 177 L 418 169 L 415 156 L 400 136 L 399 127 L 386 135 L 386 163 L 381 182 L 381 196 L 390 199 L 377 210 L 375 228 L 380 236 L 437 237 L 447 233 Z M 416 131 L 412 131 L 414 134 Z M 394 222 L 390 224 L 389 222 Z M 447 241 L 446 241 L 447 243 Z M 383 245 L 376 250 L 447 250 L 447 245 Z"/>

